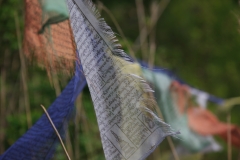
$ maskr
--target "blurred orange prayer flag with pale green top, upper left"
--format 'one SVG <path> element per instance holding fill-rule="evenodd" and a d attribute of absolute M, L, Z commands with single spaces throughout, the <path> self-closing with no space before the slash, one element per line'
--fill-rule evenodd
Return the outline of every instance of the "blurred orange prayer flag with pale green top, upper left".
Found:
<path fill-rule="evenodd" d="M 64 0 L 25 0 L 26 56 L 52 71 L 74 71 L 76 47 Z M 50 25 L 51 24 L 51 25 Z"/>

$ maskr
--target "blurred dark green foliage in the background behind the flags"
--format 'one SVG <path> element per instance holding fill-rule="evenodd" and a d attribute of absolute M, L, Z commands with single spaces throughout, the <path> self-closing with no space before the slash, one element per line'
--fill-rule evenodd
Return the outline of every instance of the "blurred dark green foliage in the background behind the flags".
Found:
<path fill-rule="evenodd" d="M 98 2 L 98 1 L 94 1 Z M 128 43 L 133 45 L 139 36 L 136 4 L 134 0 L 101 0 L 116 18 Z M 146 23 L 150 19 L 152 0 L 144 0 Z M 101 11 L 107 23 L 118 33 L 110 16 Z M 15 15 L 20 19 L 23 36 L 24 2 L 23 0 L 0 0 L 0 66 L 1 66 L 1 113 L 0 134 L 4 135 L 2 150 L 11 146 L 28 129 L 23 88 L 20 75 L 20 59 L 17 45 Z M 237 0 L 172 0 L 164 10 L 155 26 L 156 53 L 154 64 L 171 69 L 190 85 L 213 95 L 228 99 L 240 96 L 240 35 L 239 4 Z M 118 36 L 123 47 L 128 51 L 121 36 Z M 149 42 L 149 39 L 147 40 Z M 136 57 L 143 58 L 140 51 Z M 145 53 L 149 54 L 149 53 Z M 146 56 L 148 57 L 148 56 Z M 148 59 L 143 59 L 148 61 Z M 49 82 L 46 71 L 35 62 L 28 62 L 28 94 L 30 98 L 31 117 L 33 122 L 43 114 L 40 104 L 49 106 L 56 98 L 55 90 Z M 4 78 L 4 73 L 6 77 Z M 61 88 L 67 84 L 69 75 L 60 75 Z M 3 96 L 4 95 L 4 96 Z M 104 154 L 94 108 L 89 91 L 86 88 L 82 95 L 82 107 L 79 121 L 70 124 L 73 157 L 79 152 L 80 159 L 101 160 Z M 3 103 L 5 99 L 5 104 Z M 4 105 L 4 106 L 3 106 Z M 227 113 L 219 114 L 219 106 L 209 104 L 210 109 L 226 122 Z M 78 112 L 77 112 L 78 113 Z M 232 109 L 232 123 L 240 126 L 240 106 Z M 79 126 L 78 141 L 75 137 L 75 125 Z M 205 154 L 204 160 L 227 159 L 227 145 L 219 139 L 223 151 Z M 76 145 L 80 147 L 75 150 Z M 164 159 L 169 153 L 169 145 L 164 141 L 157 149 Z M 233 148 L 233 158 L 239 156 L 239 149 Z M 61 147 L 57 149 L 56 160 L 65 159 Z M 155 158 L 154 159 L 159 159 Z"/>

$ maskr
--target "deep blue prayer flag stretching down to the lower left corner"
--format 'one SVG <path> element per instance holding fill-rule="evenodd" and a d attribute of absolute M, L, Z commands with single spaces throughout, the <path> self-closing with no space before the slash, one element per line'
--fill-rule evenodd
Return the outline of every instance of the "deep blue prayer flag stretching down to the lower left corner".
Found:
<path fill-rule="evenodd" d="M 48 108 L 48 114 L 62 138 L 64 138 L 68 121 L 73 117 L 74 102 L 85 85 L 85 77 L 81 67 L 78 66 L 75 76 Z M 57 134 L 46 114 L 43 114 L 21 138 L 0 156 L 0 160 L 50 160 L 58 143 Z"/>

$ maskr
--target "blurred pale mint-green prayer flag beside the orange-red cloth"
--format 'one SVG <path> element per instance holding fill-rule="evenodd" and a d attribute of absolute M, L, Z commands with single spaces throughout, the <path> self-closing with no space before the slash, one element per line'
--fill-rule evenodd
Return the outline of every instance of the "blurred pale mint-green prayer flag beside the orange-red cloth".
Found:
<path fill-rule="evenodd" d="M 183 100 L 175 101 L 176 97 L 171 91 L 172 80 L 167 75 L 147 69 L 143 69 L 143 75 L 155 90 L 155 97 L 164 120 L 172 128 L 179 129 L 181 132 L 176 141 L 191 153 L 219 150 L 215 141 L 201 136 L 189 128 L 187 114 L 183 112 L 184 108 L 179 111 L 178 107 L 178 103 L 184 105 L 185 102 Z"/>

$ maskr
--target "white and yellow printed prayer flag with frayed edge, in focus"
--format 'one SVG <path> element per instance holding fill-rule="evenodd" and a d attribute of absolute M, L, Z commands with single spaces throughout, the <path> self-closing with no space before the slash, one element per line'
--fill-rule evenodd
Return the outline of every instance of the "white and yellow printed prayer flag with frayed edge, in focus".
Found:
<path fill-rule="evenodd" d="M 91 93 L 105 158 L 146 158 L 176 132 L 155 112 L 153 90 L 89 0 L 67 0 L 71 27 Z"/>

